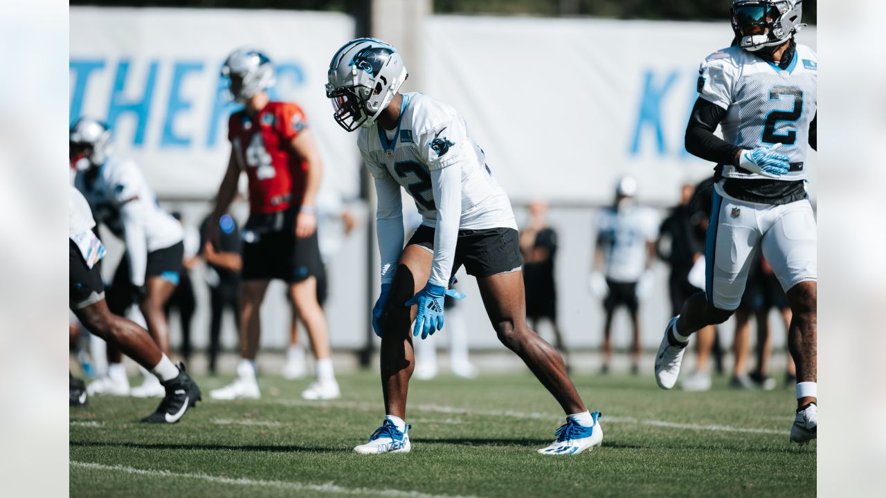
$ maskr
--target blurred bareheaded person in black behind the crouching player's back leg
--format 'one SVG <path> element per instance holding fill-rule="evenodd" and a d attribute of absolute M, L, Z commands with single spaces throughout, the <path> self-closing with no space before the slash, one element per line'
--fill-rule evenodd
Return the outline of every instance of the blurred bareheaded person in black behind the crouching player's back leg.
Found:
<path fill-rule="evenodd" d="M 569 370 L 569 352 L 556 322 L 556 282 L 554 259 L 557 250 L 556 231 L 548 226 L 548 204 L 540 199 L 529 203 L 529 221 L 520 232 L 523 253 L 523 281 L 526 290 L 526 319 L 533 331 L 541 320 L 548 320 L 554 331 L 554 346 L 563 355 Z"/>

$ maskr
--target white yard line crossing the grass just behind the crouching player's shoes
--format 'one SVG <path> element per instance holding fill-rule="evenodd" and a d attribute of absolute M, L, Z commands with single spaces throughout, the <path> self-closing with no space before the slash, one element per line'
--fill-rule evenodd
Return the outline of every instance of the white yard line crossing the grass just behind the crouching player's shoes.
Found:
<path fill-rule="evenodd" d="M 346 409 L 361 409 L 361 410 L 377 410 L 380 408 L 380 403 L 368 403 L 368 402 L 358 402 L 358 401 L 303 401 L 303 400 L 274 400 L 274 402 L 279 404 L 284 404 L 288 406 L 299 406 L 299 407 L 334 407 L 334 408 L 346 408 Z M 513 410 L 482 410 L 482 409 L 464 409 L 459 407 L 449 407 L 442 405 L 434 405 L 434 404 L 424 404 L 413 407 L 418 411 L 429 411 L 432 413 L 443 413 L 447 415 L 479 415 L 479 416 L 502 416 L 502 417 L 510 417 L 510 418 L 531 418 L 536 420 L 551 420 L 551 421 L 560 421 L 563 420 L 562 415 L 555 415 L 551 413 L 540 413 L 540 412 L 522 412 L 522 411 L 513 411 Z M 717 425 L 717 424 L 687 424 L 680 422 L 668 422 L 665 420 L 649 420 L 649 419 L 641 419 L 641 418 L 633 418 L 631 416 L 607 416 L 603 414 L 602 422 L 606 423 L 615 423 L 615 424 L 637 424 L 637 425 L 649 425 L 652 427 L 672 427 L 674 429 L 687 429 L 689 431 L 713 431 L 713 432 L 746 432 L 751 434 L 780 434 L 786 435 L 788 433 L 788 427 L 784 430 L 778 429 L 764 429 L 758 427 L 733 427 L 731 425 Z"/>

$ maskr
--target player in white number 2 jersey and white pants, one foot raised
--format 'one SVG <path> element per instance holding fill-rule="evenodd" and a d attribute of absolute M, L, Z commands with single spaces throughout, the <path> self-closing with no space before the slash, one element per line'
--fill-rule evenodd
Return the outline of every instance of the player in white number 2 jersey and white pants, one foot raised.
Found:
<path fill-rule="evenodd" d="M 805 26 L 801 13 L 802 0 L 734 0 L 734 43 L 699 69 L 686 149 L 717 163 L 706 293 L 690 297 L 668 323 L 656 380 L 670 389 L 689 335 L 733 314 L 761 250 L 794 314 L 788 341 L 797 362 L 797 415 L 790 440 L 805 444 L 818 424 L 816 227 L 804 188 L 806 153 L 816 148 L 818 61 L 794 40 Z M 713 134 L 718 125 L 723 139 Z"/>

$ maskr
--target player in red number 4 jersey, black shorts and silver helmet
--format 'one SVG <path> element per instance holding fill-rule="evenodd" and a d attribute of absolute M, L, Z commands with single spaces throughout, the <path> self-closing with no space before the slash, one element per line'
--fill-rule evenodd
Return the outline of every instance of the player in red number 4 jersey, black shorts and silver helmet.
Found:
<path fill-rule="evenodd" d="M 301 397 L 338 398 L 332 371 L 326 317 L 317 302 L 317 276 L 323 261 L 317 243 L 316 196 L 323 164 L 307 128 L 305 113 L 289 102 L 272 102 L 265 91 L 274 85 L 274 66 L 260 51 L 237 50 L 222 66 L 230 93 L 245 109 L 228 122 L 231 144 L 228 170 L 219 187 L 209 240 L 217 241 L 219 220 L 237 195 L 237 181 L 249 178 L 249 219 L 242 231 L 240 286 L 240 355 L 237 378 L 211 391 L 216 400 L 259 398 L 255 355 L 261 333 L 259 311 L 271 279 L 289 285 L 292 303 L 305 323 L 314 348 L 316 381 Z"/>

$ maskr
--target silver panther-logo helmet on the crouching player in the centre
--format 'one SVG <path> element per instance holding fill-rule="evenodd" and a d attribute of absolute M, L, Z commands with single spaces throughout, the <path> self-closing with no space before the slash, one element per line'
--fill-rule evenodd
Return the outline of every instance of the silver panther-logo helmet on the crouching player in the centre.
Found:
<path fill-rule="evenodd" d="M 332 100 L 335 121 L 354 131 L 376 121 L 409 74 L 390 44 L 357 38 L 332 56 L 328 76 L 326 97 Z"/>

